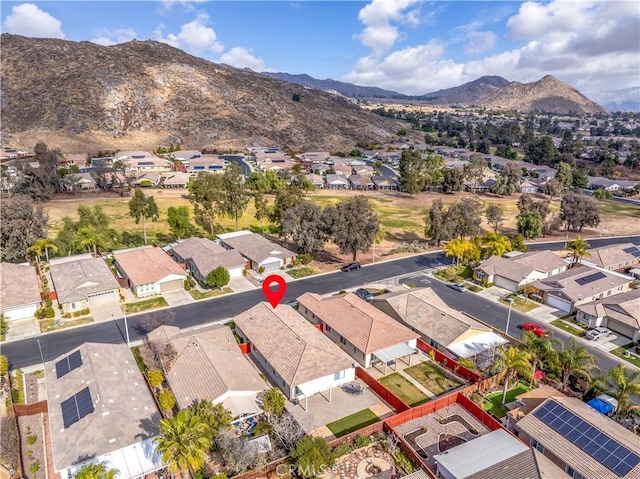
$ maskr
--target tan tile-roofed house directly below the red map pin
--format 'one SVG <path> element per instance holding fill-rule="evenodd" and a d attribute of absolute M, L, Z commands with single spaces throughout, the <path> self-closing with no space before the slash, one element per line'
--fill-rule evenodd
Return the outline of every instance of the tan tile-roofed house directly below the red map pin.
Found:
<path fill-rule="evenodd" d="M 289 400 L 325 391 L 331 400 L 333 388 L 355 379 L 353 359 L 289 306 L 258 303 L 234 322 L 255 363 Z"/>

